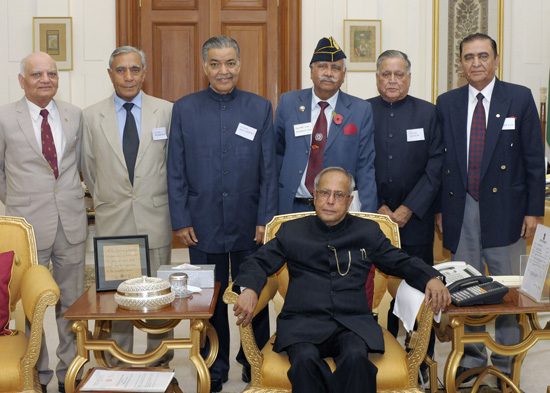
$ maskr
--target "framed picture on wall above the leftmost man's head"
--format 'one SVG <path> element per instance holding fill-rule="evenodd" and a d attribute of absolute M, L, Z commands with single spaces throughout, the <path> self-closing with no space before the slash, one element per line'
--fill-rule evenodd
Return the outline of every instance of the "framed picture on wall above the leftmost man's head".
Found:
<path fill-rule="evenodd" d="M 49 54 L 58 71 L 73 69 L 73 19 L 34 17 L 33 51 Z"/>

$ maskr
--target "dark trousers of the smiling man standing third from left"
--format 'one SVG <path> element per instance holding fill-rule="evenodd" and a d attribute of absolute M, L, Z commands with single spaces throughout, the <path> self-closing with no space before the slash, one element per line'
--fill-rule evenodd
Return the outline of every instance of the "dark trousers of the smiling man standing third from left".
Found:
<path fill-rule="evenodd" d="M 244 262 L 247 256 L 255 253 L 257 248 L 246 251 L 230 252 L 223 254 L 209 254 L 196 250 L 194 247 L 189 248 L 189 257 L 192 264 L 204 265 L 212 264 L 216 265 L 216 281 L 221 283 L 220 293 L 218 295 L 218 301 L 216 308 L 214 309 L 214 315 L 210 318 L 210 323 L 216 329 L 218 333 L 218 341 L 220 343 L 218 357 L 214 361 L 214 364 L 210 367 L 211 379 L 225 379 L 229 372 L 229 321 L 228 321 L 228 305 L 223 302 L 223 293 L 227 288 L 229 282 L 229 261 L 231 260 L 231 277 L 233 280 L 237 278 L 239 274 L 239 268 L 241 263 Z M 254 337 L 258 348 L 263 348 L 269 340 L 269 309 L 265 307 L 260 311 L 252 321 L 254 330 Z M 234 339 L 239 340 L 239 337 Z M 201 348 L 201 355 L 206 358 L 210 350 L 209 341 L 204 348 Z M 244 355 L 242 347 L 237 354 L 237 362 L 242 365 L 248 365 L 248 361 Z"/>

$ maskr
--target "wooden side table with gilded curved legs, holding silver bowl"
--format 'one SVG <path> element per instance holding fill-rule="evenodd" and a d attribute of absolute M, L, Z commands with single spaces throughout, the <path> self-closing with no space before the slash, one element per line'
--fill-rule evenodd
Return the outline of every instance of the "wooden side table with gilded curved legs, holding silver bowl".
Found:
<path fill-rule="evenodd" d="M 125 363 L 144 366 L 160 359 L 171 349 L 188 349 L 189 358 L 197 369 L 197 392 L 210 392 L 210 367 L 218 355 L 218 335 L 208 320 L 214 314 L 220 283 L 214 288 L 203 288 L 192 298 L 175 299 L 170 307 L 155 311 L 132 311 L 118 307 L 114 300 L 115 292 L 96 292 L 90 288 L 65 312 L 64 319 L 75 321 L 77 356 L 69 366 L 65 377 L 65 390 L 73 393 L 76 376 L 82 366 L 90 361 L 90 351 L 101 367 L 109 367 L 104 351 Z M 150 325 L 145 320 L 165 319 L 162 325 Z M 93 334 L 88 329 L 88 321 L 94 320 Z M 111 321 L 131 321 L 138 329 L 153 334 L 166 333 L 174 329 L 182 320 L 189 320 L 189 337 L 163 339 L 159 346 L 149 353 L 133 354 L 121 349 L 114 340 L 103 338 L 110 331 Z M 206 359 L 200 354 L 206 337 L 210 340 L 210 352 Z"/>

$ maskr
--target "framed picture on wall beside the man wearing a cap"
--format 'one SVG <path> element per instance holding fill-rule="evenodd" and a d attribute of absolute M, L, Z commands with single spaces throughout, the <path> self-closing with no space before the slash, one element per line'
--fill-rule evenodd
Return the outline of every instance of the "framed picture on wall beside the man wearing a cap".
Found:
<path fill-rule="evenodd" d="M 382 21 L 344 19 L 344 53 L 347 71 L 376 71 L 382 53 Z"/>

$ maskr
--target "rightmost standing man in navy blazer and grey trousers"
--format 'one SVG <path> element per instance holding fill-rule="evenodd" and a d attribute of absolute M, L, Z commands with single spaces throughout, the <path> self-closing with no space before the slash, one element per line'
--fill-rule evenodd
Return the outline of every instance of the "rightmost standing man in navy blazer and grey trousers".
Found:
<path fill-rule="evenodd" d="M 480 272 L 487 267 L 491 275 L 508 275 L 519 274 L 525 239 L 544 215 L 545 167 L 533 96 L 529 89 L 495 77 L 499 60 L 491 37 L 478 33 L 464 38 L 460 63 L 468 85 L 437 100 L 445 153 L 436 221 L 453 260 Z M 515 316 L 500 316 L 495 326 L 497 342 L 518 342 Z M 493 354 L 491 360 L 510 373 L 509 357 Z M 457 375 L 485 365 L 484 346 L 467 345 Z"/>

